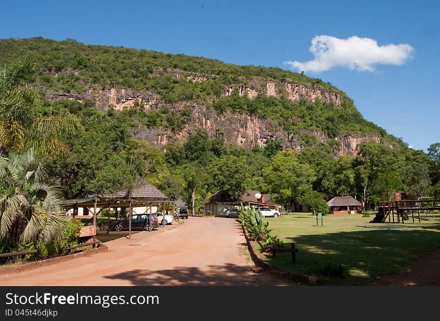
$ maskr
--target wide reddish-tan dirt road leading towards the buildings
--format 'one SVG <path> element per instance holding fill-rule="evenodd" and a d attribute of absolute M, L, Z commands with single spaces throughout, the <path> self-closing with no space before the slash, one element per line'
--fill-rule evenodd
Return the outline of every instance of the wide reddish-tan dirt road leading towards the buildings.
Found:
<path fill-rule="evenodd" d="M 108 252 L 2 276 L 0 286 L 290 285 L 250 271 L 254 265 L 234 219 L 183 222 L 106 242 Z"/>

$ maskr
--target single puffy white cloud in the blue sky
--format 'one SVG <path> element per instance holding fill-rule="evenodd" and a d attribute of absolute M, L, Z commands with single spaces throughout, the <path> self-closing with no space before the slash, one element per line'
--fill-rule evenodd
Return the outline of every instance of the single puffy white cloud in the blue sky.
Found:
<path fill-rule="evenodd" d="M 409 44 L 378 46 L 374 39 L 355 35 L 347 39 L 317 35 L 311 39 L 308 50 L 314 55 L 313 60 L 285 61 L 284 64 L 298 71 L 320 72 L 335 66 L 374 71 L 374 65 L 379 63 L 401 65 L 411 58 L 414 52 L 414 48 Z"/>

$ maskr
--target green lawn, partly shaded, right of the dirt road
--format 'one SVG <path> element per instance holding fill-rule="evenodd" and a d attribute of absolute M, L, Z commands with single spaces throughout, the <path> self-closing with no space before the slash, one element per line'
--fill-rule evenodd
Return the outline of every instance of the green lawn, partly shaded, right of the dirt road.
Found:
<path fill-rule="evenodd" d="M 284 270 L 314 275 L 322 285 L 367 285 L 374 277 L 395 274 L 408 268 L 416 258 L 423 257 L 440 248 L 440 215 L 425 218 L 420 223 L 405 221 L 404 225 L 421 229 L 373 230 L 357 225 L 368 223 L 373 216 L 360 214 L 326 215 L 323 226 L 316 226 L 316 219 L 309 213 L 266 218 L 272 234 L 284 243 L 294 242 L 298 248 L 296 264 L 291 263 L 290 253 L 262 257 L 267 262 Z M 392 224 L 392 223 L 391 223 Z M 286 244 L 285 246 L 288 246 Z M 255 246 L 259 249 L 259 246 Z M 327 278 L 319 275 L 318 266 L 324 262 L 342 264 L 347 270 L 341 278 Z"/>

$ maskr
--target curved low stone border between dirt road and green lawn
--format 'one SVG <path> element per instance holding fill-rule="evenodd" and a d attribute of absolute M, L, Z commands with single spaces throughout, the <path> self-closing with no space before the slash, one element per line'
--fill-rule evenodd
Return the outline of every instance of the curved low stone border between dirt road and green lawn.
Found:
<path fill-rule="evenodd" d="M 315 286 L 317 284 L 317 278 L 315 278 L 315 277 L 288 272 L 288 271 L 285 271 L 281 268 L 275 267 L 272 264 L 264 261 L 258 255 L 258 253 L 255 250 L 255 248 L 253 247 L 252 243 L 250 243 L 249 237 L 247 236 L 247 232 L 242 225 L 241 225 L 241 229 L 243 230 L 244 238 L 246 239 L 247 250 L 249 251 L 250 258 L 252 259 L 253 263 L 257 267 L 260 267 L 260 268 L 264 269 L 264 271 L 267 271 L 270 274 L 275 275 L 281 279 L 292 280 L 295 282 L 300 282 L 302 284 L 311 285 L 311 286 Z"/>

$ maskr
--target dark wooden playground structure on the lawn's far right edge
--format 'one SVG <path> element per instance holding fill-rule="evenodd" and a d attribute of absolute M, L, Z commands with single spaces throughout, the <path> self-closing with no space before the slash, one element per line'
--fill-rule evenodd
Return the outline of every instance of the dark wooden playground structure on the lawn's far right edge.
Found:
<path fill-rule="evenodd" d="M 425 216 L 428 211 L 435 217 L 434 211 L 440 211 L 440 200 L 434 200 L 430 197 L 419 197 L 417 200 L 396 200 L 396 201 L 382 201 L 377 203 L 378 212 L 370 223 L 385 223 L 388 218 L 388 223 L 395 223 L 394 212 L 396 214 L 397 223 L 404 223 L 404 220 L 409 219 L 409 215 L 414 223 L 414 212 L 416 212 L 418 222 L 420 223 L 420 213 Z"/>

